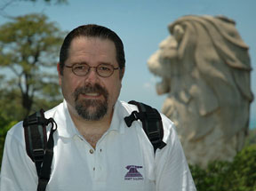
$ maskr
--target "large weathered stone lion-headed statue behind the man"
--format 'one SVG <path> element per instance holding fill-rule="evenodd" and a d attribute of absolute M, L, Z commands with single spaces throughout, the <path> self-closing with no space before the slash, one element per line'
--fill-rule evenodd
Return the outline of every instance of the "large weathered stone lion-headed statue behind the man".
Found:
<path fill-rule="evenodd" d="M 248 46 L 235 21 L 224 16 L 184 16 L 148 60 L 168 93 L 162 112 L 176 124 L 188 163 L 231 161 L 248 130 L 252 71 Z"/>

